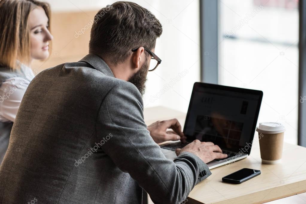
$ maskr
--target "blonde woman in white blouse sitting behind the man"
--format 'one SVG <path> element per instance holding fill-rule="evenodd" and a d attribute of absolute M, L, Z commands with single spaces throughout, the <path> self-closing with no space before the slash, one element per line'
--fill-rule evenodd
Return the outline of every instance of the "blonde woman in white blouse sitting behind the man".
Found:
<path fill-rule="evenodd" d="M 35 76 L 32 60 L 49 56 L 50 7 L 36 0 L 0 0 L 0 164 L 19 105 Z"/>

